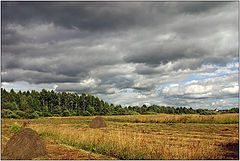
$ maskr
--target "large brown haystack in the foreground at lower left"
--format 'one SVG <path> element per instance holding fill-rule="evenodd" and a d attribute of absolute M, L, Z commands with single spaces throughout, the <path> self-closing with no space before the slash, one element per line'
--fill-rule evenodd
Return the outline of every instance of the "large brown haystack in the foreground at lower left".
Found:
<path fill-rule="evenodd" d="M 23 128 L 7 142 L 3 157 L 13 160 L 30 160 L 46 153 L 46 146 L 38 133 L 30 128 Z"/>

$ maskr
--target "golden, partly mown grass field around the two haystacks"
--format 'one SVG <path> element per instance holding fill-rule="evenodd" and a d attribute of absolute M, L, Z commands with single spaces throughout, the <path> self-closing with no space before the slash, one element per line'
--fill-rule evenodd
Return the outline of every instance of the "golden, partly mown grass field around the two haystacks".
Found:
<path fill-rule="evenodd" d="M 102 116 L 107 127 L 91 129 L 95 116 L 1 120 L 1 152 L 24 122 L 45 141 L 41 160 L 238 159 L 239 114 Z M 4 159 L 4 158 L 2 158 Z"/>

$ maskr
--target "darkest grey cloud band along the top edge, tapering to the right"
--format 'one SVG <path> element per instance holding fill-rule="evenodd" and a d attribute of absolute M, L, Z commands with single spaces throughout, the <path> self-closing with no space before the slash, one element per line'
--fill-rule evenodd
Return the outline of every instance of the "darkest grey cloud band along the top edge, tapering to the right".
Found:
<path fill-rule="evenodd" d="M 2 2 L 3 24 L 51 23 L 91 31 L 111 31 L 168 21 L 174 12 L 199 13 L 225 2 Z M 172 13 L 173 12 L 173 13 Z M 167 17 L 166 14 L 168 14 Z M 176 13 L 175 13 L 176 14 Z M 157 15 L 157 16 L 156 16 Z M 163 15 L 163 16 L 162 16 Z M 153 24 L 152 24 L 153 23 Z"/>

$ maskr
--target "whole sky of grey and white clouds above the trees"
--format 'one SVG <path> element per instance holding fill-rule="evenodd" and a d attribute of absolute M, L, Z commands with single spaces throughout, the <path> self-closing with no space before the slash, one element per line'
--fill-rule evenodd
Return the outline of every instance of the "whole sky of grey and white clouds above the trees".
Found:
<path fill-rule="evenodd" d="M 2 2 L 2 87 L 238 106 L 237 2 Z"/>

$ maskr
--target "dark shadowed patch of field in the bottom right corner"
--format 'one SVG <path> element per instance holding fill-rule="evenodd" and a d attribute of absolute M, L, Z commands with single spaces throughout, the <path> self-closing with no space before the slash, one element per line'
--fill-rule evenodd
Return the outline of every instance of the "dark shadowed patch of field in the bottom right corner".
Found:
<path fill-rule="evenodd" d="M 225 153 L 225 159 L 239 160 L 239 143 L 228 143 L 223 145 L 223 148 L 228 152 Z"/>

